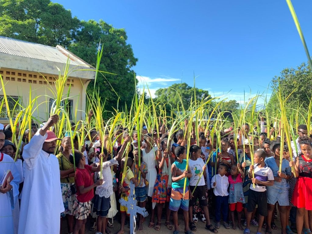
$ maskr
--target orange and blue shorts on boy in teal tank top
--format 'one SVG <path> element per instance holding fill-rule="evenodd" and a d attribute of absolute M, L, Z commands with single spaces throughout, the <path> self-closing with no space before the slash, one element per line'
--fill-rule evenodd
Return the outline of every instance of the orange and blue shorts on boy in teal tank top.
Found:
<path fill-rule="evenodd" d="M 188 187 L 185 188 L 185 194 L 183 199 L 183 188 L 172 188 L 171 197 L 169 202 L 169 209 L 172 211 L 178 211 L 179 208 L 188 211 Z"/>

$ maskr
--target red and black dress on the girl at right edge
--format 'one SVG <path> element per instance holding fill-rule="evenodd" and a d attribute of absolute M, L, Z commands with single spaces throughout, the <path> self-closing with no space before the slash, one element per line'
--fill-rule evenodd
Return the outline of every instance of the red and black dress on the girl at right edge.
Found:
<path fill-rule="evenodd" d="M 298 156 L 299 177 L 291 202 L 298 208 L 312 210 L 312 159 L 307 160 L 303 155 Z"/>

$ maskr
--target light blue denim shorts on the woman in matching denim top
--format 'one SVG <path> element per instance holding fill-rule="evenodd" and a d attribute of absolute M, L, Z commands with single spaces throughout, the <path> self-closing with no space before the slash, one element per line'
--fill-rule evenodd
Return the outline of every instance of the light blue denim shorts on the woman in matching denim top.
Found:
<path fill-rule="evenodd" d="M 269 204 L 274 205 L 278 202 L 280 206 L 289 206 L 289 185 L 286 180 L 282 180 L 282 182 L 274 181 L 274 184 L 272 186 L 267 186 L 266 189 L 268 191 Z"/>

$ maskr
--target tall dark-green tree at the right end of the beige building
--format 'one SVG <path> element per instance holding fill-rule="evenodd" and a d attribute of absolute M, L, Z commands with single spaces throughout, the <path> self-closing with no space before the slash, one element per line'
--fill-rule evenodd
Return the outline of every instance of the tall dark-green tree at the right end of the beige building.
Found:
<path fill-rule="evenodd" d="M 69 46 L 70 51 L 93 66 L 96 65 L 98 47 L 103 46 L 99 70 L 116 74 L 99 74 L 97 77 L 96 89 L 99 89 L 102 99 L 106 100 L 107 110 L 113 110 L 117 106 L 119 109 L 125 105 L 129 107 L 137 90 L 135 73 L 131 68 L 138 59 L 134 57 L 127 39 L 124 29 L 114 28 L 103 20 L 89 20 L 81 21 L 76 39 Z M 89 92 L 93 91 L 93 87 L 94 81 L 88 86 Z"/>

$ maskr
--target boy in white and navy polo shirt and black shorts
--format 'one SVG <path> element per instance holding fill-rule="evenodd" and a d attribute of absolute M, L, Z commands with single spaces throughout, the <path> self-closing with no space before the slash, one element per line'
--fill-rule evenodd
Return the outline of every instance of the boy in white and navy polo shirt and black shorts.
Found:
<path fill-rule="evenodd" d="M 272 186 L 274 183 L 274 176 L 272 170 L 266 166 L 264 160 L 266 158 L 266 153 L 264 150 L 258 150 L 254 154 L 254 163 L 249 168 L 249 178 L 252 183 L 250 185 L 248 194 L 248 204 L 247 204 L 247 226 L 244 230 L 244 234 L 250 233 L 250 220 L 252 212 L 255 210 L 256 205 L 258 205 L 259 213 L 259 227 L 257 233 L 261 233 L 262 224 L 264 217 L 268 215 L 267 209 L 267 194 L 266 186 Z M 252 171 L 254 172 L 254 178 L 252 176 Z M 255 186 L 255 187 L 254 187 Z"/>

